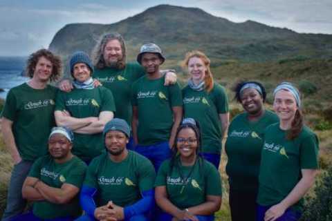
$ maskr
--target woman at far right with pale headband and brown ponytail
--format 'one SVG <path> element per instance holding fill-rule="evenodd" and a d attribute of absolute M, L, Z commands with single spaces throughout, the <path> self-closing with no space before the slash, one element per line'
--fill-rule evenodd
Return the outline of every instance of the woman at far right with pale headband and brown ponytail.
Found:
<path fill-rule="evenodd" d="M 304 126 L 297 88 L 284 82 L 275 88 L 273 97 L 279 124 L 264 132 L 257 220 L 299 220 L 303 196 L 315 182 L 318 139 Z"/>

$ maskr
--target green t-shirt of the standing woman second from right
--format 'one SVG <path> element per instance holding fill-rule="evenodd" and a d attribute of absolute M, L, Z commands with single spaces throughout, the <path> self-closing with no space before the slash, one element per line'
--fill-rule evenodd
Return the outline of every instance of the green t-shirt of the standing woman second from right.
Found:
<path fill-rule="evenodd" d="M 277 115 L 266 110 L 257 122 L 248 121 L 248 113 L 241 113 L 230 123 L 225 151 L 226 173 L 232 189 L 257 191 L 264 130 L 276 122 Z"/>

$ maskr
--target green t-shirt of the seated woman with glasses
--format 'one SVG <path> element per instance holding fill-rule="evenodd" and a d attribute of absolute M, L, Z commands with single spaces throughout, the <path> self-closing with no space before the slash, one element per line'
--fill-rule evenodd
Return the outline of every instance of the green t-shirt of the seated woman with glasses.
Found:
<path fill-rule="evenodd" d="M 182 166 L 177 157 L 173 169 L 171 160 L 165 160 L 154 186 L 166 186 L 168 199 L 179 209 L 202 204 L 207 195 L 222 194 L 219 171 L 206 160 L 198 160 L 194 166 Z"/>

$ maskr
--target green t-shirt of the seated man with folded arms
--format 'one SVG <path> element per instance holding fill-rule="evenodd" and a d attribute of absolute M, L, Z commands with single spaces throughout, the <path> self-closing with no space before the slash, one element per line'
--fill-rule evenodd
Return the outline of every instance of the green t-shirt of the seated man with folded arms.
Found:
<path fill-rule="evenodd" d="M 32 166 L 28 177 L 35 177 L 50 187 L 61 189 L 62 184 L 71 184 L 81 188 L 86 164 L 78 157 L 63 164 L 56 163 L 50 155 L 40 157 Z M 55 204 L 46 200 L 33 202 L 33 214 L 42 219 L 62 218 L 66 216 L 77 217 L 82 209 L 79 194 L 66 204 Z"/>

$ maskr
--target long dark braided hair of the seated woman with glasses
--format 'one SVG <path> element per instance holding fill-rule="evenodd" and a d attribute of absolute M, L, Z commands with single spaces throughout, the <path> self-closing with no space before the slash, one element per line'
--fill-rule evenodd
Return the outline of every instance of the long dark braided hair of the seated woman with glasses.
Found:
<path fill-rule="evenodd" d="M 178 157 L 178 149 L 176 148 L 177 146 L 177 140 L 178 140 L 178 133 L 180 133 L 180 131 L 182 131 L 185 128 L 191 128 L 195 135 L 196 135 L 196 140 L 197 140 L 197 148 L 196 148 L 196 161 L 199 162 L 199 166 L 200 169 L 202 168 L 201 165 L 203 165 L 203 158 L 201 157 L 202 155 L 202 148 L 201 148 L 201 144 L 202 144 L 202 137 L 201 137 L 201 130 L 200 130 L 200 126 L 199 123 L 196 121 L 196 125 L 194 124 L 180 124 L 180 126 L 178 126 L 178 129 L 176 131 L 176 135 L 175 135 L 175 142 L 172 146 L 172 157 L 170 160 L 170 170 L 169 170 L 169 174 L 172 173 L 172 170 L 174 169 L 174 166 L 176 167 L 176 158 Z"/>

